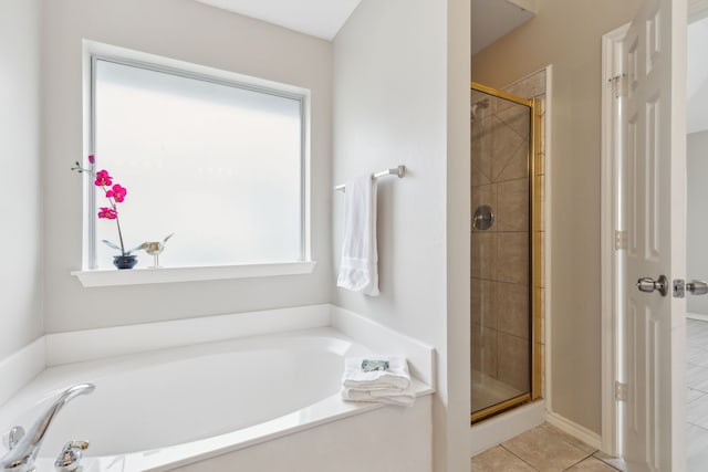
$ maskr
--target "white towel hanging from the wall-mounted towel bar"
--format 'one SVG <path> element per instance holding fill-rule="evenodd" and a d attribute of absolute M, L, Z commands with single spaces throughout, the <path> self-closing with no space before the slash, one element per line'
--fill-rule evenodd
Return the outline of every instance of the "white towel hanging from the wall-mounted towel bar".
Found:
<path fill-rule="evenodd" d="M 346 182 L 344 242 L 336 285 L 364 295 L 378 295 L 376 249 L 376 179 L 371 175 Z"/>

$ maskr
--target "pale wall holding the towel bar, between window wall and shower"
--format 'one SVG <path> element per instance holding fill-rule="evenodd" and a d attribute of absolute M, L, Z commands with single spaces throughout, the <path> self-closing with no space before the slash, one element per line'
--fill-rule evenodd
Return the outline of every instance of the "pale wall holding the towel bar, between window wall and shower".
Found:
<path fill-rule="evenodd" d="M 449 31 L 448 21 L 454 23 Z M 450 57 L 448 45 L 454 51 Z M 448 66 L 457 73 L 452 80 Z M 460 252 L 448 259 L 446 227 L 449 190 L 460 190 L 457 197 L 461 208 L 455 207 L 450 213 L 459 214 L 461 210 L 455 230 L 462 235 L 458 234 L 457 241 L 468 241 L 469 172 L 464 174 L 469 160 L 469 127 L 465 125 L 468 66 L 466 1 L 363 0 L 334 41 L 334 183 L 399 164 L 406 166 L 407 176 L 378 182 L 381 296 L 334 289 L 332 300 L 436 347 L 434 455 L 438 472 L 469 466 L 469 458 L 460 459 L 457 448 L 448 441 L 456 437 L 450 434 L 454 427 L 447 422 L 448 349 L 455 350 L 460 363 L 460 378 L 469 377 L 469 346 L 465 347 L 465 342 L 454 348 L 447 344 L 448 263 L 454 261 L 452 273 L 461 274 L 459 282 L 454 282 L 460 289 L 450 291 L 456 308 L 451 315 L 467 319 L 469 344 L 469 249 L 462 242 L 456 247 L 461 248 Z M 462 123 L 454 132 L 458 151 L 455 158 L 460 161 L 454 169 L 461 171 L 457 178 L 467 182 L 449 189 L 448 81 L 454 90 L 451 101 L 459 103 L 457 123 Z M 344 197 L 339 192 L 333 196 L 335 271 L 343 239 Z M 450 417 L 462 431 L 458 437 L 466 438 L 469 395 L 464 394 L 461 400 L 455 398 L 461 409 Z"/>

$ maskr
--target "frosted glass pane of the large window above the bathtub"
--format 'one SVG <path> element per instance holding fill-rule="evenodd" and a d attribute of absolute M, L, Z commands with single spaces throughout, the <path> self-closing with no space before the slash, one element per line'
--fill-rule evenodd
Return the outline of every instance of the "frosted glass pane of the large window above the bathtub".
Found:
<path fill-rule="evenodd" d="M 95 64 L 96 169 L 127 188 L 126 250 L 174 232 L 165 266 L 303 260 L 301 99 Z M 101 191 L 96 206 L 106 206 Z M 118 243 L 114 221 L 92 221 L 97 241 Z M 113 268 L 116 251 L 96 250 L 97 266 Z"/>

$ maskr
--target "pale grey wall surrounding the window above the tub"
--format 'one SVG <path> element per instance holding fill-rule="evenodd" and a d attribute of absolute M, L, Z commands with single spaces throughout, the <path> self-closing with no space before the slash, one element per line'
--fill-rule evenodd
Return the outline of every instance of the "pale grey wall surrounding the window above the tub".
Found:
<path fill-rule="evenodd" d="M 48 333 L 329 302 L 331 43 L 191 0 L 46 0 L 43 21 L 43 166 L 51 176 L 43 193 Z M 312 91 L 314 274 L 104 289 L 83 289 L 70 275 L 81 269 L 82 256 L 82 185 L 70 171 L 85 153 L 82 39 Z M 126 216 L 123 225 L 129 224 Z"/>

